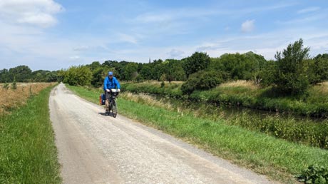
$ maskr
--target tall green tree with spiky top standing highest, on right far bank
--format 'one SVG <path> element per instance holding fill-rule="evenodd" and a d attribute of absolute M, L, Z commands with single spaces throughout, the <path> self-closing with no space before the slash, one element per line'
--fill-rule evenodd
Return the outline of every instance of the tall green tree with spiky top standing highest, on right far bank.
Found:
<path fill-rule="evenodd" d="M 302 94 L 309 81 L 304 68 L 304 59 L 309 57 L 309 48 L 303 48 L 303 40 L 289 44 L 282 52 L 277 52 L 277 73 L 275 84 L 282 93 Z"/>

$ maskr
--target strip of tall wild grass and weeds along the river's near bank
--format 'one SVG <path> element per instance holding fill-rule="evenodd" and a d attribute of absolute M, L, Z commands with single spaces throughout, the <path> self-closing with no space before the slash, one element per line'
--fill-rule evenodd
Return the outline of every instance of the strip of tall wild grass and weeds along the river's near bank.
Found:
<path fill-rule="evenodd" d="M 159 106 L 168 110 L 191 113 L 195 118 L 207 118 L 212 121 L 225 120 L 230 126 L 240 126 L 250 131 L 266 133 L 269 136 L 282 138 L 290 142 L 316 146 L 328 150 L 328 120 L 314 121 L 310 118 L 283 116 L 275 113 L 262 114 L 259 111 L 243 108 L 217 107 L 207 103 L 195 103 L 180 99 L 149 96 L 145 93 L 122 94 L 123 98 L 143 103 L 148 106 Z M 232 110 L 234 112 L 232 112 Z"/>

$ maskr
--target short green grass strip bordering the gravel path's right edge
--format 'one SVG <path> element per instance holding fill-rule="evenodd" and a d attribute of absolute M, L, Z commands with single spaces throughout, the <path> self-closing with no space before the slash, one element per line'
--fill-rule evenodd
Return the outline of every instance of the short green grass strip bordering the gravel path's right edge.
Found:
<path fill-rule="evenodd" d="M 98 103 L 100 91 L 70 87 L 78 95 Z M 93 96 L 93 98 L 91 98 Z M 328 167 L 328 151 L 228 126 L 224 121 L 195 118 L 192 113 L 148 106 L 118 98 L 118 111 L 149 126 L 188 140 L 222 158 L 284 183 L 312 164 Z"/>

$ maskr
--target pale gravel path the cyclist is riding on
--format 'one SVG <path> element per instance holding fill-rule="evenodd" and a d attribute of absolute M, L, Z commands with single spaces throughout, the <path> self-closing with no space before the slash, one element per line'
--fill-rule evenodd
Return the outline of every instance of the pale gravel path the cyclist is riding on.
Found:
<path fill-rule="evenodd" d="M 49 108 L 63 183 L 271 183 L 120 114 L 104 116 L 62 83 Z"/>

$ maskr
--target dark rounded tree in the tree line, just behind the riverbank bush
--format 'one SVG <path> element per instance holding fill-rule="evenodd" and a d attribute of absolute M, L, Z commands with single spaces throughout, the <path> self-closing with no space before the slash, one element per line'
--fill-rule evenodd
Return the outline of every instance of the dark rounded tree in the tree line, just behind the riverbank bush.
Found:
<path fill-rule="evenodd" d="M 185 58 L 183 68 L 187 77 L 192 73 L 204 70 L 210 63 L 210 56 L 207 53 L 195 52 L 192 56 Z"/>

